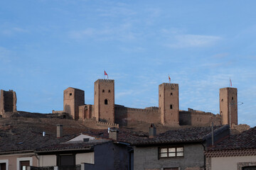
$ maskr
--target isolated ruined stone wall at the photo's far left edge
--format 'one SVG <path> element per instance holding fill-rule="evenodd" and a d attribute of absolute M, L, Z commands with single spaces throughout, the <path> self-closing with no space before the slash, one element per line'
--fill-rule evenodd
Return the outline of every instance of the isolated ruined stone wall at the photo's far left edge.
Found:
<path fill-rule="evenodd" d="M 9 90 L 4 91 L 1 90 L 0 95 L 0 114 L 3 115 L 6 112 L 17 112 L 17 97 L 15 91 Z"/>

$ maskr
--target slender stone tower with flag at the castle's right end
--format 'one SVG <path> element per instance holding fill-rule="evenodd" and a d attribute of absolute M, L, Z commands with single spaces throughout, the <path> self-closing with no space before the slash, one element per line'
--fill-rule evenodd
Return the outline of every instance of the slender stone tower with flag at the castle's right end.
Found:
<path fill-rule="evenodd" d="M 225 87 L 220 89 L 220 115 L 223 125 L 238 125 L 238 89 Z"/>

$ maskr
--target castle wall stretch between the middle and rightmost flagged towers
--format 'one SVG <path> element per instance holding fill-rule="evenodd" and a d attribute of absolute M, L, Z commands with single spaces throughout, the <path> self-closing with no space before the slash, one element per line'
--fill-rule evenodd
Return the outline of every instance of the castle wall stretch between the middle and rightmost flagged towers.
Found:
<path fill-rule="evenodd" d="M 212 122 L 221 125 L 221 116 L 213 113 L 180 111 L 179 117 L 180 125 L 210 126 Z"/>

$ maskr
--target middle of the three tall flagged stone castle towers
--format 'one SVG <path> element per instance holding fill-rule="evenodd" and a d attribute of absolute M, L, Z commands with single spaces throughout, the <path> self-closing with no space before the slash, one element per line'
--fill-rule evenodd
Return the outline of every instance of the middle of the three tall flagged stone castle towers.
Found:
<path fill-rule="evenodd" d="M 178 84 L 164 83 L 159 85 L 159 110 L 161 124 L 178 126 Z"/>

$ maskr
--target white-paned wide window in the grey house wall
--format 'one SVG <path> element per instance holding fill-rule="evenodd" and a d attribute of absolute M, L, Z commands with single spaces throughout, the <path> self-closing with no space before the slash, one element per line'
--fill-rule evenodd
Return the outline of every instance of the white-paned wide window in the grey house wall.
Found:
<path fill-rule="evenodd" d="M 159 158 L 183 157 L 184 147 L 160 147 Z"/>

